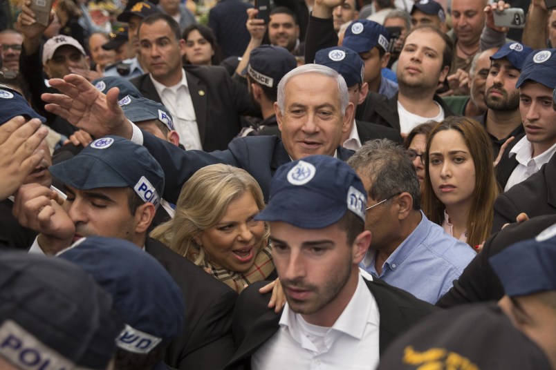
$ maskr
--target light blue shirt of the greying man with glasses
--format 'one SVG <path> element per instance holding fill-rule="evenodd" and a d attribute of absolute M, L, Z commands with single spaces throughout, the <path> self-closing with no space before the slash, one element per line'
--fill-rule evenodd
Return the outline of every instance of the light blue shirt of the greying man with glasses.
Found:
<path fill-rule="evenodd" d="M 452 282 L 476 253 L 467 244 L 444 233 L 423 212 L 421 215 L 423 218 L 415 230 L 384 262 L 380 275 L 375 269 L 373 249 L 369 249 L 361 265 L 374 277 L 434 304 L 452 288 Z"/>

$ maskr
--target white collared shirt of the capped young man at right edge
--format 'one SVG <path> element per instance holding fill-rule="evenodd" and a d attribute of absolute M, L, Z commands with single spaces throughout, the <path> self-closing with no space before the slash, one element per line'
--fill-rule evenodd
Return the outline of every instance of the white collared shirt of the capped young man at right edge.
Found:
<path fill-rule="evenodd" d="M 532 158 L 532 144 L 526 136 L 523 136 L 512 150 L 510 150 L 510 156 L 515 155 L 517 167 L 514 168 L 512 175 L 508 178 L 508 182 L 506 186 L 504 186 L 504 191 L 510 190 L 515 184 L 519 184 L 523 180 L 528 179 L 533 173 L 539 171 L 542 165 L 550 160 L 555 151 L 556 144 L 550 146 L 544 153 Z"/>

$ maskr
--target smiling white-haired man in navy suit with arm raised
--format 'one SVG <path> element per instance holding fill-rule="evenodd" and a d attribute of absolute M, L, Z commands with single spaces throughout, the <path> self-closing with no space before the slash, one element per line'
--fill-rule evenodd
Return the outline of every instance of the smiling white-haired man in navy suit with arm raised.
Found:
<path fill-rule="evenodd" d="M 163 166 L 166 175 L 163 197 L 169 202 L 178 199 L 181 187 L 195 171 L 209 164 L 243 168 L 257 179 L 268 199 L 270 179 L 282 164 L 314 154 L 342 160 L 353 154 L 340 146 L 342 133 L 350 128 L 353 104 L 342 76 L 326 66 L 306 64 L 281 79 L 274 106 L 281 139 L 273 135 L 241 137 L 234 139 L 228 150 L 212 153 L 183 151 L 139 130 L 124 117 L 115 90 L 104 97 L 77 75 L 50 83 L 67 95 L 43 95 L 53 103 L 48 106 L 53 113 L 93 136 L 119 135 L 143 144 Z M 70 104 L 64 103 L 68 97 L 72 99 Z"/>

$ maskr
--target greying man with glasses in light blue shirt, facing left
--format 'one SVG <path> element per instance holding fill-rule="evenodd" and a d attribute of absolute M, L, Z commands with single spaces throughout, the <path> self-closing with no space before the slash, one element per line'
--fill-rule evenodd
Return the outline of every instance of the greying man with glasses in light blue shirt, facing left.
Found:
<path fill-rule="evenodd" d="M 368 196 L 365 227 L 373 239 L 362 268 L 421 300 L 436 302 L 476 253 L 420 211 L 419 180 L 403 148 L 373 140 L 347 163 Z"/>

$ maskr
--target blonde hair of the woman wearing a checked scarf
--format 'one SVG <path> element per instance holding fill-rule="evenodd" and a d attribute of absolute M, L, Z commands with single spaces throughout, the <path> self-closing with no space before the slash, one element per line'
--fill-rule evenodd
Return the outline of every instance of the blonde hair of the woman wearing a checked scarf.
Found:
<path fill-rule="evenodd" d="M 245 170 L 227 164 L 212 164 L 198 170 L 181 189 L 174 219 L 160 224 L 151 237 L 160 240 L 176 253 L 201 265 L 206 252 L 194 237 L 217 224 L 230 202 L 249 192 L 259 211 L 265 204 L 259 183 Z M 270 229 L 265 224 L 263 240 Z"/>

